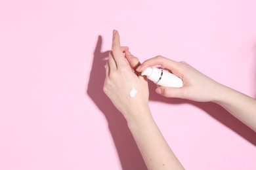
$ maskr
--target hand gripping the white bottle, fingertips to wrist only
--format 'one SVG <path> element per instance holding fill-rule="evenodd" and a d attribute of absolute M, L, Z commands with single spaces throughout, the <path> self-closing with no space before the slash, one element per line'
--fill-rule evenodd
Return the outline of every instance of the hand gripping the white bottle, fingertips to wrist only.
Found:
<path fill-rule="evenodd" d="M 192 101 L 215 101 L 219 95 L 221 84 L 209 78 L 188 63 L 181 61 L 173 61 L 163 56 L 147 59 L 140 67 L 137 68 L 138 72 L 144 71 L 147 67 L 161 65 L 163 68 L 168 69 L 183 81 L 182 88 L 165 88 L 158 86 L 156 92 L 164 95 L 165 97 L 177 97 L 182 99 L 189 99 Z"/>

